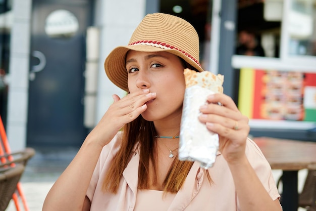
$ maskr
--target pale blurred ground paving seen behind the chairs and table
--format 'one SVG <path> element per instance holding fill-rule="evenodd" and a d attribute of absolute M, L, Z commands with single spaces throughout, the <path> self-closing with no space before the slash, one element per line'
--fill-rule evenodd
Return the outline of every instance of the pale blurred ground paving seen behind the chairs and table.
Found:
<path fill-rule="evenodd" d="M 77 153 L 77 148 L 68 149 L 35 149 L 36 154 L 28 162 L 24 175 L 21 178 L 21 186 L 30 211 L 41 211 L 44 199 L 51 186 L 62 174 L 67 165 Z M 277 181 L 282 172 L 273 170 Z M 298 190 L 301 191 L 307 171 L 299 171 Z M 280 186 L 280 189 L 282 186 Z M 22 206 L 22 203 L 20 203 Z M 6 211 L 16 211 L 13 201 Z M 22 210 L 23 207 L 22 207 Z M 298 211 L 306 209 L 298 208 Z"/>

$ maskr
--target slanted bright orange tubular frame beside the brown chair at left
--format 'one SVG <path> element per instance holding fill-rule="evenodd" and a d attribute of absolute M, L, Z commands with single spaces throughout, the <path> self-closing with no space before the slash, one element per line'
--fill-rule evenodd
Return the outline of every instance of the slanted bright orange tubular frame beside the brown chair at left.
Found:
<path fill-rule="evenodd" d="M 11 153 L 11 149 L 10 149 L 9 141 L 8 141 L 7 134 L 6 134 L 6 131 L 5 131 L 5 126 L 3 124 L 1 116 L 0 116 L 0 137 L 1 137 L 2 143 L 3 143 L 4 147 L 5 147 L 6 153 L 10 154 Z M 0 144 L 0 154 L 2 154 L 2 155 L 4 154 L 4 151 L 3 151 L 3 148 L 2 148 L 1 144 Z M 3 157 L 3 158 L 6 159 L 5 157 Z M 8 159 L 10 161 L 12 161 L 13 157 L 9 156 Z M 29 211 L 29 208 L 27 206 L 27 202 L 26 202 L 24 193 L 22 191 L 22 187 L 21 187 L 21 183 L 20 182 L 18 182 L 18 184 L 17 184 L 17 190 L 18 190 L 18 193 L 19 193 L 19 195 L 20 195 L 20 197 L 22 199 L 22 203 L 23 203 L 25 211 Z M 13 194 L 12 199 L 14 200 L 15 207 L 16 207 L 17 211 L 20 211 L 21 208 L 20 208 L 19 199 L 18 199 L 18 196 L 17 196 L 16 193 Z"/>

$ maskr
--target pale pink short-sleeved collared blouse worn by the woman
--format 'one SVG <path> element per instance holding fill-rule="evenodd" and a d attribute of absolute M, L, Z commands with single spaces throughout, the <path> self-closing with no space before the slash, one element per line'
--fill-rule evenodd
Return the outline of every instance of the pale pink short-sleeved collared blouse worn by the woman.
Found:
<path fill-rule="evenodd" d="M 141 193 L 140 198 L 138 198 L 139 154 L 137 148 L 135 148 L 134 156 L 123 172 L 118 192 L 116 194 L 103 192 L 102 183 L 104 175 L 108 171 L 120 147 L 120 142 L 121 133 L 119 132 L 107 146 L 104 146 L 100 154 L 86 193 L 91 201 L 91 211 L 132 211 L 136 210 L 134 209 L 135 207 L 137 210 L 141 210 L 141 207 L 146 206 L 145 203 L 148 201 L 155 202 L 153 207 L 168 211 L 240 210 L 231 172 L 226 160 L 220 153 L 218 153 L 213 167 L 208 169 L 209 175 L 213 180 L 212 184 L 209 184 L 199 163 L 194 162 L 182 188 L 175 194 L 173 199 L 168 198 L 168 202 L 166 202 L 164 200 L 158 200 L 157 193 L 152 193 L 151 191 L 148 191 L 145 200 L 143 193 Z M 280 195 L 272 176 L 271 167 L 258 146 L 250 139 L 248 139 L 246 143 L 246 155 L 271 198 L 273 200 L 279 198 Z M 166 207 L 163 208 L 163 206 Z"/>

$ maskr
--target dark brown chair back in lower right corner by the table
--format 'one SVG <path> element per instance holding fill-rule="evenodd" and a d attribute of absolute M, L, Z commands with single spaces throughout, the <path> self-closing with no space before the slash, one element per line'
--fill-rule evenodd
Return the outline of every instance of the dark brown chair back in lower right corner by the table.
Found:
<path fill-rule="evenodd" d="M 298 204 L 309 211 L 316 211 L 316 170 L 308 171 Z"/>

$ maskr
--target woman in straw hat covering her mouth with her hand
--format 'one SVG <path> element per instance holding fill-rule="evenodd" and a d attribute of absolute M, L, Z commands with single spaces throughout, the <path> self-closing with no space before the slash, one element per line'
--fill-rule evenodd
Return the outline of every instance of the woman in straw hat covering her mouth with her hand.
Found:
<path fill-rule="evenodd" d="M 161 13 L 142 20 L 104 63 L 128 95 L 113 96 L 43 210 L 281 210 L 269 163 L 247 139 L 248 119 L 224 94 L 208 96 L 198 117 L 220 137 L 214 166 L 177 159 L 183 70 L 203 71 L 198 53 L 185 20 Z"/>

